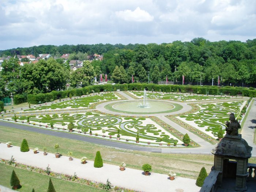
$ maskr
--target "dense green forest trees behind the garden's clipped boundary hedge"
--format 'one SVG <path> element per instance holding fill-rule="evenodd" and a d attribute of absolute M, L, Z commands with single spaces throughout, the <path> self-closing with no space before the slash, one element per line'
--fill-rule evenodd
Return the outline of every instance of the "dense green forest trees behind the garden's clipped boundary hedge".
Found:
<path fill-rule="evenodd" d="M 69 65 L 60 59 L 39 60 L 25 64 L 10 59 L 2 63 L 0 73 L 0 98 L 14 94 L 47 93 L 53 90 L 84 87 L 93 84 L 93 77 L 107 74 L 115 83 L 158 83 L 165 81 L 185 84 L 217 85 L 256 84 L 256 39 L 210 42 L 194 38 L 191 42 L 174 41 L 163 44 L 95 44 L 95 45 L 40 45 L 30 48 L 1 50 L 0 57 L 49 53 L 55 58 L 65 53 L 75 56 L 103 55 L 103 60 L 84 61 L 82 68 L 70 71 Z M 149 79 L 148 79 L 149 78 Z"/>

